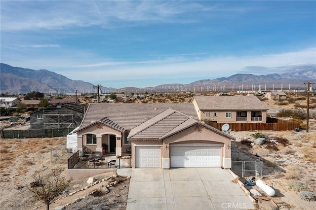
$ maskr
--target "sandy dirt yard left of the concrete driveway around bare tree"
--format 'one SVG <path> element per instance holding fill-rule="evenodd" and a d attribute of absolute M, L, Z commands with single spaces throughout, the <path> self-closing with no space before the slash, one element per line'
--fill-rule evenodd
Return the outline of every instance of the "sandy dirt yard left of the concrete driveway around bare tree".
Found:
<path fill-rule="evenodd" d="M 63 153 L 61 159 L 54 158 L 51 164 L 51 149 L 55 149 L 53 156 Z M 32 203 L 28 186 L 33 182 L 32 175 L 41 172 L 44 175 L 50 173 L 51 169 L 65 169 L 68 154 L 66 150 L 66 138 L 33 138 L 33 139 L 1 139 L 0 140 L 0 209 L 5 210 L 32 210 L 34 208 L 44 210 L 45 205 L 40 202 Z M 111 210 L 126 209 L 129 180 L 125 177 L 111 177 L 107 181 L 102 179 L 117 176 L 116 172 L 109 172 L 95 176 L 96 181 L 101 181 L 85 190 L 80 190 L 87 186 L 87 178 L 74 180 L 70 183 L 68 191 L 60 196 L 60 199 L 50 205 L 50 209 L 56 206 L 67 206 L 67 210 L 92 210 L 92 208 L 103 208 Z M 118 183 L 110 187 L 109 193 L 103 195 L 99 193 L 101 185 L 108 185 L 109 182 Z M 70 193 L 78 191 L 72 196 Z M 87 196 L 87 194 L 90 194 Z M 67 197 L 65 197 L 67 195 Z M 85 198 L 84 198 L 85 197 Z M 75 202 L 75 199 L 82 199 Z"/>

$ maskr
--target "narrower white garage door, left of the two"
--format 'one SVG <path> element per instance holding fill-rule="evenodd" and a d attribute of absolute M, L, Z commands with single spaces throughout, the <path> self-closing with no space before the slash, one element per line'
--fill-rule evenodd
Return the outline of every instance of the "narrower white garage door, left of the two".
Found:
<path fill-rule="evenodd" d="M 160 146 L 136 146 L 136 168 L 160 168 Z"/>

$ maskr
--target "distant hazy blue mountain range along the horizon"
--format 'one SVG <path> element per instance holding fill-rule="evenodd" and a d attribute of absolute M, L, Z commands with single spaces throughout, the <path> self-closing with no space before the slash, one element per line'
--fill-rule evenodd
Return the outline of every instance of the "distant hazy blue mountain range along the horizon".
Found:
<path fill-rule="evenodd" d="M 287 73 L 253 75 L 238 73 L 230 77 L 217 79 L 204 79 L 190 84 L 162 84 L 155 87 L 137 88 L 125 87 L 120 89 L 102 87 L 104 92 L 173 92 L 173 91 L 234 91 L 272 89 L 294 89 L 306 88 L 304 83 L 316 81 L 315 66 L 293 66 Z M 94 84 L 81 80 L 71 80 L 61 74 L 49 70 L 31 70 L 20 67 L 12 67 L 7 64 L 0 64 L 0 92 L 1 93 L 27 93 L 39 91 L 42 93 L 79 93 L 96 92 Z"/>

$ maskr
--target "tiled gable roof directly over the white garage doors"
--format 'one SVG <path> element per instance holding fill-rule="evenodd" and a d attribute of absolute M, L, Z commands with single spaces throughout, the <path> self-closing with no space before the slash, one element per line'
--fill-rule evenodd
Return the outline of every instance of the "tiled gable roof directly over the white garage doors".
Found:
<path fill-rule="evenodd" d="M 221 132 L 206 124 L 200 123 L 199 121 L 173 109 L 167 109 L 150 120 L 147 120 L 143 124 L 135 127 L 130 131 L 127 138 L 129 140 L 163 140 L 196 124 L 212 130 L 217 134 L 225 136 L 226 138 L 234 139 L 224 132 Z"/>

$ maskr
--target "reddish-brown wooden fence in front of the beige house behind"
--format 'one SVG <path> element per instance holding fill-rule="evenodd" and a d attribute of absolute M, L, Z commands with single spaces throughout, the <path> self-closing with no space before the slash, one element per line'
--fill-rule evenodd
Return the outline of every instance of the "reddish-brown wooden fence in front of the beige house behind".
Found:
<path fill-rule="evenodd" d="M 208 125 L 221 130 L 224 124 L 225 123 L 210 123 Z M 229 125 L 232 131 L 290 131 L 300 127 L 300 123 L 289 122 L 287 120 L 280 120 L 271 117 L 267 117 L 267 123 L 230 123 Z"/>

